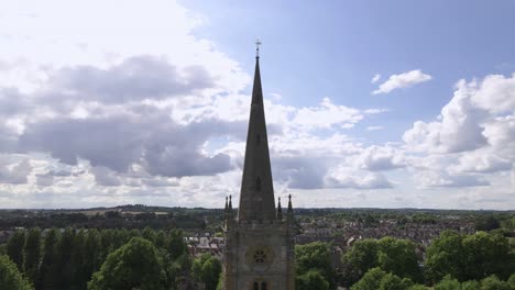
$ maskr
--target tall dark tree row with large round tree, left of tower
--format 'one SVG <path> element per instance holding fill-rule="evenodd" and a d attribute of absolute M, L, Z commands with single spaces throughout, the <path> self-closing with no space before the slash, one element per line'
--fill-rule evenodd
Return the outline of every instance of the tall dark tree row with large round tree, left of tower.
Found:
<path fill-rule="evenodd" d="M 132 289 L 141 282 L 141 289 L 177 289 L 195 280 L 178 230 L 31 228 L 17 231 L 1 252 L 36 290 Z"/>

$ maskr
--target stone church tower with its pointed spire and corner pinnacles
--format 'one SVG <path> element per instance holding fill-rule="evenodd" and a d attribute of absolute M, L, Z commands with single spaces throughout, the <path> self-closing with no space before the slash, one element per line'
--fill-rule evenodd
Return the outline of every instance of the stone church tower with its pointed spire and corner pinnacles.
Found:
<path fill-rule="evenodd" d="M 295 258 L 292 197 L 275 208 L 261 89 L 259 42 L 238 215 L 226 200 L 226 290 L 293 290 Z"/>

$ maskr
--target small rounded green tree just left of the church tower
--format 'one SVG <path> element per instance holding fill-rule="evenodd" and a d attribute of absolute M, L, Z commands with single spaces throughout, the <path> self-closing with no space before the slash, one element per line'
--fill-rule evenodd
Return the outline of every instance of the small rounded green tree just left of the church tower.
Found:
<path fill-rule="evenodd" d="M 196 258 L 191 265 L 193 278 L 206 285 L 206 290 L 215 290 L 221 272 L 220 261 L 210 254 Z"/>

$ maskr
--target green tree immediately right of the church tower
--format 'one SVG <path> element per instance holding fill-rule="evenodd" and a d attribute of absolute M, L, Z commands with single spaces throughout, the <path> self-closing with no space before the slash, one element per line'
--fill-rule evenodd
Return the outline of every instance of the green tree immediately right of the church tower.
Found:
<path fill-rule="evenodd" d="M 329 288 L 335 288 L 335 269 L 331 266 L 329 245 L 315 242 L 295 246 L 296 272 L 303 276 L 310 270 L 317 270 L 329 282 Z"/>

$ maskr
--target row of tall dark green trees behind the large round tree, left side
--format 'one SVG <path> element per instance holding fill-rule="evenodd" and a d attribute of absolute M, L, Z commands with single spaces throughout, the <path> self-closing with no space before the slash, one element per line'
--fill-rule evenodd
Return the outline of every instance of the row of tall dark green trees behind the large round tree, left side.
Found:
<path fill-rule="evenodd" d="M 32 228 L 12 235 L 10 248 L 11 253 L 21 253 L 20 271 L 30 278 L 35 289 L 85 290 L 106 257 L 135 236 L 152 238 L 154 245 L 160 245 L 156 250 L 166 272 L 167 286 L 175 287 L 177 281 L 184 280 L 183 277 L 188 277 L 190 258 L 183 233 L 176 230 L 155 232 L 146 228 L 140 232 L 124 228 L 66 228 L 62 232 L 51 228 L 42 234 L 37 228 Z"/>

